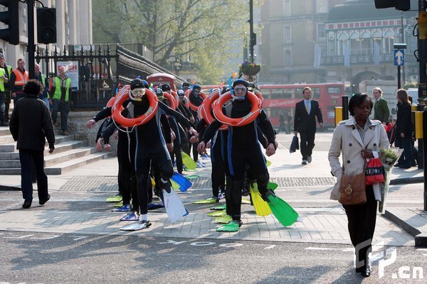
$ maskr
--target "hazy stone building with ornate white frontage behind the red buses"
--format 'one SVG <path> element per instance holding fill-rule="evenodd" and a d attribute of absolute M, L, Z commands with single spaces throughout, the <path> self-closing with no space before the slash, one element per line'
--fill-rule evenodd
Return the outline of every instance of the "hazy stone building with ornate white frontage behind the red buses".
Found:
<path fill-rule="evenodd" d="M 403 16 L 403 18 L 402 18 Z M 406 82 L 418 67 L 413 12 L 372 0 L 267 0 L 261 9 L 260 83 L 396 80 L 394 43 L 405 42 Z"/>

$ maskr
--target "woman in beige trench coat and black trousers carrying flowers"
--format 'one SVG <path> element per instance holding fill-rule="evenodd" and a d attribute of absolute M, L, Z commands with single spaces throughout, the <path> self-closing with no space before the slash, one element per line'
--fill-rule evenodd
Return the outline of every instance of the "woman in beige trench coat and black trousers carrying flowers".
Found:
<path fill-rule="evenodd" d="M 369 119 L 373 105 L 367 94 L 354 94 L 349 102 L 352 117 L 341 121 L 334 130 L 328 154 L 331 173 L 337 177 L 337 183 L 332 187 L 332 200 L 339 200 L 343 174 L 354 177 L 363 173 L 366 159 L 378 158 L 379 149 L 390 146 L 384 126 L 379 121 Z M 342 165 L 339 155 L 342 155 Z M 366 190 L 367 202 L 342 206 L 347 214 L 349 235 L 355 248 L 356 273 L 369 277 L 368 255 L 375 231 L 376 200 L 372 185 L 362 186 Z"/>

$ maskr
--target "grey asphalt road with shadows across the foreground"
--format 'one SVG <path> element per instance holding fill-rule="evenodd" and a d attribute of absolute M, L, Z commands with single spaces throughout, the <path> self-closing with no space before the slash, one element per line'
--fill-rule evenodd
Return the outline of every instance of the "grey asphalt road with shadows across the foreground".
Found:
<path fill-rule="evenodd" d="M 396 261 L 364 279 L 344 245 L 1 231 L 0 283 L 425 283 L 426 250 L 374 249 Z"/>

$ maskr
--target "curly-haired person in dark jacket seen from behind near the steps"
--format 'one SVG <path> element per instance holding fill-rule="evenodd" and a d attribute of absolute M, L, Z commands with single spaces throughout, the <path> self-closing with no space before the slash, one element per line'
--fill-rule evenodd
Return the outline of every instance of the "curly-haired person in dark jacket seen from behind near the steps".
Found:
<path fill-rule="evenodd" d="M 33 201 L 31 159 L 34 160 L 37 171 L 38 203 L 43 205 L 51 198 L 48 194 L 48 177 L 43 169 L 43 153 L 46 144 L 45 136 L 49 143 L 49 153 L 53 153 L 55 133 L 51 114 L 46 104 L 38 99 L 38 94 L 41 92 L 43 89 L 40 82 L 29 80 L 23 87 L 24 97 L 16 102 L 9 124 L 14 140 L 18 141 L 16 148 L 19 150 L 21 190 L 25 200 L 22 204 L 23 208 L 31 207 Z"/>

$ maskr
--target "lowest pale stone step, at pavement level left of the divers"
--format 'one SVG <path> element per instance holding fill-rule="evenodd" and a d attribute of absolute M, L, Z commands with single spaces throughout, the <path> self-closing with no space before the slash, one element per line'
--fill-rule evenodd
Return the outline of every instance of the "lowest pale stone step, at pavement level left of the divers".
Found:
<path fill-rule="evenodd" d="M 83 165 L 96 162 L 97 160 L 108 158 L 112 155 L 111 152 L 96 152 L 90 155 L 85 155 L 81 158 L 68 160 L 64 163 L 51 165 L 45 168 L 47 175 L 61 175 L 65 172 L 79 168 Z M 0 168 L 0 175 L 21 175 L 21 168 Z"/>

